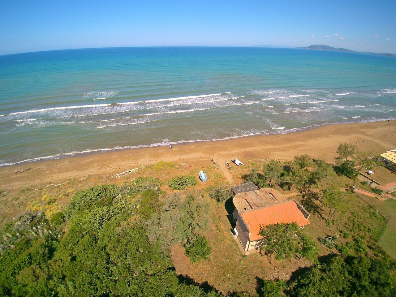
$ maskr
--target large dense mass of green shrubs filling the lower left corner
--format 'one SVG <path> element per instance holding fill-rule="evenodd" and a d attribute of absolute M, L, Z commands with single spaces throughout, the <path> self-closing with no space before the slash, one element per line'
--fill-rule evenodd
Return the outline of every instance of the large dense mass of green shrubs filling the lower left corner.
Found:
<path fill-rule="evenodd" d="M 0 296 L 221 296 L 181 283 L 170 257 L 157 242 L 148 241 L 143 221 L 152 209 L 161 210 L 157 193 L 141 193 L 132 206 L 115 194 L 115 188 L 105 185 L 76 195 L 77 209 L 69 210 L 72 218 L 66 217 L 64 235 L 44 215 L 28 214 L 6 224 L 0 232 L 9 234 L 1 242 Z M 207 216 L 208 209 L 195 196 L 183 205 L 185 224 L 178 232 L 187 228 L 185 236 L 190 236 L 191 230 L 201 229 L 205 219 L 200 213 Z M 55 217 L 52 225 L 62 215 Z"/>

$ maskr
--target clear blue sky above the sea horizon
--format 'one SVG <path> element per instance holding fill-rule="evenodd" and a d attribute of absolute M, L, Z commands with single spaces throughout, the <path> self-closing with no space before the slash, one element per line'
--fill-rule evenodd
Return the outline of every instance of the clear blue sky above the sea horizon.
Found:
<path fill-rule="evenodd" d="M 258 44 L 326 44 L 396 53 L 394 1 L 0 2 L 0 55 L 69 48 Z"/>

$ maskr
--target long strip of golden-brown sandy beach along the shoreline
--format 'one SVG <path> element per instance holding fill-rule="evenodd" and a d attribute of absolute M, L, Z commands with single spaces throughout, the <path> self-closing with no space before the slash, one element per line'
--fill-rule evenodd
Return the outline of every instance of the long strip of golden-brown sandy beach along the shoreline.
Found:
<path fill-rule="evenodd" d="M 206 141 L 168 147 L 135 148 L 80 154 L 58 160 L 26 162 L 0 168 L 0 188 L 17 190 L 26 186 L 62 183 L 80 179 L 86 175 L 110 175 L 160 160 L 186 162 L 194 168 L 206 166 L 211 159 L 217 161 L 225 177 L 232 180 L 223 165 L 226 160 L 278 159 L 291 160 L 298 154 L 308 154 L 333 162 L 339 143 L 358 142 L 361 150 L 373 150 L 380 154 L 396 148 L 395 120 L 327 125 L 306 131 L 286 134 L 249 136 L 221 141 Z M 388 133 L 387 133 L 388 131 Z M 386 135 L 387 133 L 387 135 Z M 384 138 L 384 136 L 386 137 Z M 373 140 L 371 140 L 373 139 Z M 366 142 L 364 142 L 366 140 Z M 31 168 L 21 174 L 14 172 Z"/>

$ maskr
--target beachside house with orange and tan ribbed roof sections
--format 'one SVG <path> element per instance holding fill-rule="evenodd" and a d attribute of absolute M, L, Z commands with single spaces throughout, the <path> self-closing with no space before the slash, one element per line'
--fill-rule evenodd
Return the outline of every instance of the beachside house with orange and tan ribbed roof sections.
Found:
<path fill-rule="evenodd" d="M 310 224 L 308 211 L 297 200 L 287 200 L 278 190 L 261 188 L 241 192 L 237 187 L 233 188 L 236 195 L 232 199 L 235 206 L 232 218 L 244 251 L 256 247 L 263 238 L 260 231 L 268 225 L 296 223 L 304 228 Z"/>

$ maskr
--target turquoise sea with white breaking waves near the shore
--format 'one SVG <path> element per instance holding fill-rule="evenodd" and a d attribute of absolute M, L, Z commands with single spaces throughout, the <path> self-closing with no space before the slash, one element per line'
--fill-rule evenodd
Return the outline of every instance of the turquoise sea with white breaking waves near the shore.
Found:
<path fill-rule="evenodd" d="M 0 166 L 396 116 L 396 59 L 276 48 L 0 56 Z"/>

